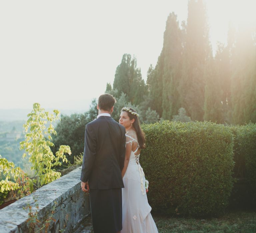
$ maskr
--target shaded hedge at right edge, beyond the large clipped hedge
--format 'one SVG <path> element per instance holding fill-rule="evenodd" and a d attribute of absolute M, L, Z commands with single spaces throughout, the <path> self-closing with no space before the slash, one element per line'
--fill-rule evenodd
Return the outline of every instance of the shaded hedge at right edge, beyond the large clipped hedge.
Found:
<path fill-rule="evenodd" d="M 256 204 L 256 124 L 230 126 L 235 135 L 235 177 L 247 178 L 249 192 Z"/>

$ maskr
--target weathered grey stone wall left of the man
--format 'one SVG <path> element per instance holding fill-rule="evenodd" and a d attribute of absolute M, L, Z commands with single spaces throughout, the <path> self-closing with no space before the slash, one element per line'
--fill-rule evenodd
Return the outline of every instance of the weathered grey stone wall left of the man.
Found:
<path fill-rule="evenodd" d="M 54 220 L 49 222 L 48 232 L 71 232 L 90 213 L 89 194 L 81 190 L 80 174 L 81 167 L 1 209 L 0 232 L 35 232 L 31 221 L 27 221 L 29 209 L 24 209 L 27 205 L 32 213 L 38 209 L 40 228 L 52 215 Z"/>

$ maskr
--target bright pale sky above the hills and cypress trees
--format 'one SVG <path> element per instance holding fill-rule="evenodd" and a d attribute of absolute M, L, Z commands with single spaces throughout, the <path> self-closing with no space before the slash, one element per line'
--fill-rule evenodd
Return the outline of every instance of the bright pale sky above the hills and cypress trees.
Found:
<path fill-rule="evenodd" d="M 213 50 L 226 42 L 230 20 L 255 20 L 254 0 L 206 2 Z M 0 109 L 32 109 L 38 102 L 86 111 L 113 84 L 124 53 L 136 56 L 146 81 L 172 11 L 180 23 L 186 20 L 187 0 L 1 1 Z"/>

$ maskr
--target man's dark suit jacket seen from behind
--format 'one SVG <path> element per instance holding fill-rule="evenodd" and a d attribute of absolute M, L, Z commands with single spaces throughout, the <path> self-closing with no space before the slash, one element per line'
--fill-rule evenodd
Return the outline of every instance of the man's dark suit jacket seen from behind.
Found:
<path fill-rule="evenodd" d="M 123 188 L 125 128 L 110 116 L 100 116 L 85 128 L 81 181 L 90 189 Z"/>

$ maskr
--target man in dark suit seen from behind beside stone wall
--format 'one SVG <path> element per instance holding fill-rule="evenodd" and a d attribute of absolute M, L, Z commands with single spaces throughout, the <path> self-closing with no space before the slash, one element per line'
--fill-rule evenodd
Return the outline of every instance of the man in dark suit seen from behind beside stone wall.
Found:
<path fill-rule="evenodd" d="M 99 115 L 85 128 L 80 179 L 82 190 L 90 190 L 94 233 L 122 230 L 124 184 L 121 171 L 125 157 L 125 128 L 111 117 L 115 102 L 112 95 L 101 95 L 97 105 Z"/>

